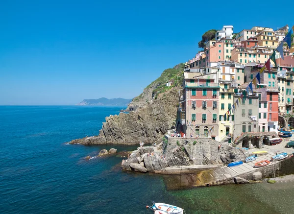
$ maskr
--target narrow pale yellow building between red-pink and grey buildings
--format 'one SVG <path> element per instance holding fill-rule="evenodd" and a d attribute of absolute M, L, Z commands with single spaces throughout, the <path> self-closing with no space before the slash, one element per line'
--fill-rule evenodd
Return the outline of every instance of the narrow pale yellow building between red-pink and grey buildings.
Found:
<path fill-rule="evenodd" d="M 224 114 L 232 108 L 234 93 L 238 89 L 233 89 L 228 87 L 227 82 L 220 82 L 220 96 L 219 96 L 219 139 L 221 142 L 227 141 L 228 143 L 232 142 L 232 138 L 229 138 L 228 135 L 232 136 L 233 127 L 234 127 L 234 115 L 224 118 Z M 233 114 L 233 110 L 231 109 Z"/>

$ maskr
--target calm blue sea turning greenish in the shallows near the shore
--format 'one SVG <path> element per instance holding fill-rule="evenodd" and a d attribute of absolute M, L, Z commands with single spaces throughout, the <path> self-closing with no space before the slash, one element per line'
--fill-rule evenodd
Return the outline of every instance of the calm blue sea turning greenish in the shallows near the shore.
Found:
<path fill-rule="evenodd" d="M 293 182 L 170 190 L 171 177 L 122 172 L 120 157 L 84 160 L 136 147 L 65 144 L 97 135 L 122 108 L 0 106 L 0 214 L 151 214 L 151 200 L 187 214 L 293 212 Z"/>

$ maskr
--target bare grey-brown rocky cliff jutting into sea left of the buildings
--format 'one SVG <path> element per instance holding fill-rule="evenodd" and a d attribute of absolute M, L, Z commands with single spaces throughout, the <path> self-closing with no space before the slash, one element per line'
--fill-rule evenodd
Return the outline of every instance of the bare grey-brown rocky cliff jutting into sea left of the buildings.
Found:
<path fill-rule="evenodd" d="M 175 125 L 178 103 L 178 88 L 172 88 L 136 111 L 107 117 L 99 136 L 73 140 L 70 143 L 158 143 Z"/>

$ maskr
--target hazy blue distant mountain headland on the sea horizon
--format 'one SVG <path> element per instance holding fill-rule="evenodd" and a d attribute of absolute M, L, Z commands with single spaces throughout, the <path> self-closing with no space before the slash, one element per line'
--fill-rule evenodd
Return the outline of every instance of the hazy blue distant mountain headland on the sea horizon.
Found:
<path fill-rule="evenodd" d="M 112 98 L 112 99 L 107 99 L 105 97 L 101 97 L 99 99 L 84 99 L 80 103 L 76 105 L 117 105 L 117 106 L 127 106 L 132 99 L 123 99 L 123 98 Z"/>

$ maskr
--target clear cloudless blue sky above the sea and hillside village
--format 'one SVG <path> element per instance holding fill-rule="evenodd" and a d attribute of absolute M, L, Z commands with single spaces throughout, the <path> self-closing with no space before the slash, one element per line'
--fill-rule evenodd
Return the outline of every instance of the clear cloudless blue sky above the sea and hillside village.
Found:
<path fill-rule="evenodd" d="M 291 8 L 293 0 L 2 0 L 0 105 L 133 98 L 193 58 L 205 31 L 291 27 Z"/>

